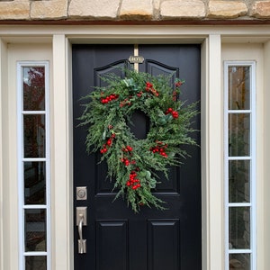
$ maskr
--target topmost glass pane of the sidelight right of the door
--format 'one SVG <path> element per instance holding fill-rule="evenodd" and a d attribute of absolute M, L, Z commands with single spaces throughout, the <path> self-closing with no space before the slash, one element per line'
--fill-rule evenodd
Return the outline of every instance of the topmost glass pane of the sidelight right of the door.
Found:
<path fill-rule="evenodd" d="M 249 67 L 229 67 L 229 110 L 250 109 Z"/>

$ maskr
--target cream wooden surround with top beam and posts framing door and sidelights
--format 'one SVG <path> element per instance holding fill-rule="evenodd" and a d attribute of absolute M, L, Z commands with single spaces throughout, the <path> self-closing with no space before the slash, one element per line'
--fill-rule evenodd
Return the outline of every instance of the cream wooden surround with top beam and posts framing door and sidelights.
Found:
<path fill-rule="evenodd" d="M 52 184 L 51 184 L 51 206 L 52 206 L 52 269 L 71 270 L 73 268 L 73 179 L 72 179 L 72 115 L 71 115 L 71 43 L 94 42 L 104 43 L 201 43 L 202 44 L 202 269 L 215 270 L 224 268 L 224 229 L 223 229 L 223 137 L 222 120 L 223 97 L 221 86 L 221 42 L 244 42 L 256 41 L 264 43 L 266 55 L 264 80 L 265 85 L 269 85 L 270 70 L 270 43 L 269 26 L 235 26 L 231 27 L 206 27 L 206 26 L 0 26 L 0 93 L 2 103 L 0 103 L 0 269 L 16 269 L 16 250 L 18 239 L 12 236 L 9 231 L 11 224 L 15 222 L 16 207 L 14 196 L 16 196 L 16 184 L 14 184 L 14 167 L 12 162 L 16 158 L 16 150 L 12 145 L 15 124 L 12 117 L 14 94 L 9 93 L 13 85 L 8 85 L 7 75 L 14 72 L 12 67 L 8 70 L 8 47 L 9 42 L 17 43 L 47 43 L 52 51 L 53 82 L 51 85 L 51 157 L 52 157 Z M 122 31 L 123 30 L 123 31 Z M 116 40 L 116 41 L 115 41 Z M 268 40 L 268 41 L 267 41 Z M 25 44 L 24 44 L 25 45 Z M 244 45 L 242 45 L 244 46 Z M 266 87 L 266 86 L 265 86 Z M 8 89 L 8 91 L 7 91 Z M 220 91 L 217 91 L 220 90 Z M 259 89 L 263 92 L 264 86 Z M 266 91 L 266 98 L 269 97 Z M 260 94 L 260 101 L 263 100 Z M 269 115 L 269 106 L 266 109 L 260 108 L 258 118 L 260 120 L 260 130 L 265 127 L 265 138 L 269 134 L 269 122 L 264 112 Z M 217 126 L 218 125 L 218 126 Z M 269 148 L 269 141 L 260 135 L 262 146 Z M 266 150 L 265 150 L 266 152 Z M 269 224 L 269 216 L 266 215 L 264 205 L 269 202 L 269 196 L 264 187 L 266 176 L 269 170 L 267 166 L 267 155 L 263 149 L 260 151 L 261 163 L 258 173 L 261 177 L 260 189 L 262 196 L 258 196 L 258 224 L 265 227 Z M 265 155 L 265 156 L 264 156 Z M 264 163 L 265 162 L 265 163 Z M 9 181 L 6 181 L 9 179 Z M 265 186 L 268 186 L 268 182 Z M 265 193 L 265 198 L 264 198 Z M 15 204 L 15 203 L 14 203 Z M 260 207 L 261 206 L 261 207 Z M 14 210 L 14 211 L 12 211 Z M 3 219 L 4 217 L 4 219 Z M 18 229 L 18 224 L 12 225 L 14 231 Z M 261 228 L 261 227 L 260 227 Z M 269 265 L 269 259 L 264 256 L 269 250 L 267 238 L 269 231 L 258 228 L 258 269 L 264 269 L 264 265 Z M 6 233 L 8 232 L 8 233 Z M 269 241 L 268 241 L 269 242 Z M 60 248 L 59 248 L 60 247 Z M 265 250 L 266 249 L 266 250 Z M 259 258 L 260 257 L 260 258 Z"/>

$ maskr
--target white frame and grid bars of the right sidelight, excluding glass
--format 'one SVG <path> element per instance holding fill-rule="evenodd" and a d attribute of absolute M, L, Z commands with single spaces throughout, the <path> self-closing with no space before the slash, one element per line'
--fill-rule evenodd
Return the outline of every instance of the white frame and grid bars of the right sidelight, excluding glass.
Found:
<path fill-rule="evenodd" d="M 229 110 L 229 67 L 250 67 L 250 109 Z M 224 202 L 225 202 L 225 270 L 229 270 L 229 254 L 250 254 L 251 270 L 257 269 L 257 116 L 256 116 L 256 61 L 224 61 Z M 250 155 L 248 157 L 229 157 L 229 112 L 250 113 Z M 229 160 L 250 160 L 250 202 L 229 202 Z M 229 207 L 250 207 L 250 248 L 229 249 Z"/>

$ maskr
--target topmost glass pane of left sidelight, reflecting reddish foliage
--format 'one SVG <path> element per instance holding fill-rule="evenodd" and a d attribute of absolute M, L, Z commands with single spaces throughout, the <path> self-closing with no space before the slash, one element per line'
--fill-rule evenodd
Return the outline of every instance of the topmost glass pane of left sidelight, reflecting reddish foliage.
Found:
<path fill-rule="evenodd" d="M 23 67 L 23 110 L 45 110 L 45 67 Z"/>

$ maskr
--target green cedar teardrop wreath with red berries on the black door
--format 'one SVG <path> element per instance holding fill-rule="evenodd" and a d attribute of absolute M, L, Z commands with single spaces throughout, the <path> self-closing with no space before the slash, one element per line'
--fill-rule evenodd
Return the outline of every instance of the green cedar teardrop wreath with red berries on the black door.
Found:
<path fill-rule="evenodd" d="M 195 103 L 179 100 L 184 80 L 175 79 L 172 87 L 172 76 L 124 72 L 124 78 L 103 76 L 107 86 L 95 87 L 83 98 L 89 99 L 79 118 L 79 125 L 87 127 L 86 150 L 100 151 L 101 161 L 106 160 L 115 199 L 122 196 L 135 212 L 143 205 L 164 210 L 164 202 L 152 191 L 160 172 L 168 178 L 169 166 L 179 166 L 180 157 L 188 156 L 181 146 L 196 144 L 190 133 L 198 112 Z M 136 111 L 149 119 L 146 139 L 130 131 Z"/>

